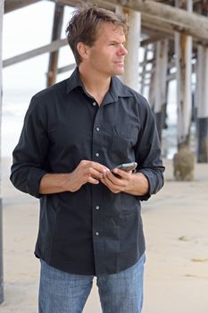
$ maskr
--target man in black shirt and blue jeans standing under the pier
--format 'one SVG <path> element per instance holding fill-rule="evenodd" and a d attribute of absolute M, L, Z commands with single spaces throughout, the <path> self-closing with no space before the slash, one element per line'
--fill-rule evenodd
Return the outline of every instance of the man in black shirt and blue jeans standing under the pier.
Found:
<path fill-rule="evenodd" d="M 162 188 L 164 167 L 145 98 L 115 77 L 127 30 L 104 9 L 74 13 L 67 37 L 78 67 L 32 98 L 13 151 L 12 183 L 40 198 L 41 313 L 82 312 L 94 276 L 104 313 L 142 309 L 140 200 Z M 115 169 L 133 161 L 137 173 Z"/>

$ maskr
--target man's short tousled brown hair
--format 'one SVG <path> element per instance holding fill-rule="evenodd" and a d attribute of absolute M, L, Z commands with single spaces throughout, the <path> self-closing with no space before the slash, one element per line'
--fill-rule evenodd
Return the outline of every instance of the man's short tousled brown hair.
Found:
<path fill-rule="evenodd" d="M 129 30 L 127 19 L 124 16 L 96 5 L 86 5 L 73 13 L 71 21 L 67 25 L 66 35 L 77 65 L 82 61 L 77 49 L 78 43 L 83 42 L 92 47 L 96 41 L 97 30 L 103 22 L 121 26 L 125 34 Z"/>

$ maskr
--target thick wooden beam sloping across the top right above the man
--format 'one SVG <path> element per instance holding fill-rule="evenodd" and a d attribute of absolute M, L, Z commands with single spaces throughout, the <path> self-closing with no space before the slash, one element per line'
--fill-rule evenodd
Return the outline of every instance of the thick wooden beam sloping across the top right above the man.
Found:
<path fill-rule="evenodd" d="M 75 0 L 56 0 L 57 3 L 77 6 Z M 89 1 L 86 1 L 87 3 Z M 201 40 L 208 44 L 208 20 L 196 13 L 187 13 L 187 11 L 172 7 L 168 4 L 161 4 L 153 0 L 98 0 L 98 5 L 113 10 L 116 5 L 142 13 L 142 28 L 149 27 L 152 30 L 164 31 L 174 35 L 177 30 L 193 36 L 196 40 Z"/>

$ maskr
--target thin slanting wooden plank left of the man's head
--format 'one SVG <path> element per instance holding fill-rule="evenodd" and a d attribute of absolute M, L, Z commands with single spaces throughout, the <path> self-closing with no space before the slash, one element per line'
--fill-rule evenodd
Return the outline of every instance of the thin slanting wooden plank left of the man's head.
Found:
<path fill-rule="evenodd" d="M 37 49 L 31 50 L 29 52 L 25 52 L 21 55 L 16 55 L 13 56 L 9 59 L 6 59 L 3 61 L 3 67 L 10 66 L 15 63 L 19 63 L 22 61 L 26 61 L 30 59 L 31 57 L 35 57 L 37 55 L 43 55 L 48 52 L 53 52 L 58 50 L 60 47 L 67 46 L 68 42 L 67 39 L 58 39 L 54 40 L 51 44 L 43 46 L 43 47 L 38 47 Z"/>

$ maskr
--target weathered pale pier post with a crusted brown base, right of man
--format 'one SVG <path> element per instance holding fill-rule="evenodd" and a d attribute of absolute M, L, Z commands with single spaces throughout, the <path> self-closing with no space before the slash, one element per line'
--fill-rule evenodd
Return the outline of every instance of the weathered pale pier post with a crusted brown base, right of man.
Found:
<path fill-rule="evenodd" d="M 187 3 L 176 0 L 176 5 L 192 11 L 192 0 Z M 190 124 L 192 112 L 192 38 L 175 33 L 175 51 L 177 64 L 177 102 L 178 102 L 178 150 L 174 156 L 174 176 L 179 181 L 191 181 L 194 178 L 194 155 L 190 151 Z"/>

